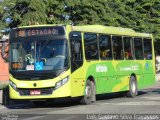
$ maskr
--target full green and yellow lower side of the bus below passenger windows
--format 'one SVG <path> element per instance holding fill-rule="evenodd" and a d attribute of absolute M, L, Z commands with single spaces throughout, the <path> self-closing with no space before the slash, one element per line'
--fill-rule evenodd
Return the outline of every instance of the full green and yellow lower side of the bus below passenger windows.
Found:
<path fill-rule="evenodd" d="M 145 67 L 145 60 L 120 60 L 86 62 L 86 78 L 92 76 L 96 83 L 96 93 L 110 93 L 129 90 L 129 80 L 131 75 L 135 75 L 138 82 L 138 89 L 154 83 L 153 65 Z"/>

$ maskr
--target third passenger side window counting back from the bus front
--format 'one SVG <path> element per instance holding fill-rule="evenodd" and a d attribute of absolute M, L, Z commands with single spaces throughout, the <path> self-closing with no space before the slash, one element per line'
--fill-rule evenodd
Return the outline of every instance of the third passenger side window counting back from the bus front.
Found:
<path fill-rule="evenodd" d="M 123 46 L 122 46 L 122 37 L 121 36 L 113 36 L 113 56 L 116 60 L 123 59 Z"/>

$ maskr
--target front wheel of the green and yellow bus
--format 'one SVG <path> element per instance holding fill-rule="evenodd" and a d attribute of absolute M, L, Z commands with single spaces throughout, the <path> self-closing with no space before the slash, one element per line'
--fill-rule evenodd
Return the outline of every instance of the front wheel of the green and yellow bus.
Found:
<path fill-rule="evenodd" d="M 80 103 L 88 105 L 96 101 L 95 84 L 93 81 L 87 80 L 85 86 L 85 95 L 81 98 Z"/>

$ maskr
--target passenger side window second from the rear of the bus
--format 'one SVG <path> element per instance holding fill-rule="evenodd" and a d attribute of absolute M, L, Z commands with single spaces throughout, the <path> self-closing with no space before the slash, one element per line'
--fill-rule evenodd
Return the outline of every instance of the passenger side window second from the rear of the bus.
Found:
<path fill-rule="evenodd" d="M 141 38 L 134 38 L 134 53 L 135 58 L 137 60 L 143 60 L 143 47 L 142 47 L 142 39 Z"/>

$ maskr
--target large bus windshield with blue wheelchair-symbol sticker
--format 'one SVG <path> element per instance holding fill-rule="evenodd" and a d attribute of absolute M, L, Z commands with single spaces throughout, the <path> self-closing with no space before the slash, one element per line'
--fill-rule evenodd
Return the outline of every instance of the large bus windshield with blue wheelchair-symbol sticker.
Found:
<path fill-rule="evenodd" d="M 12 71 L 56 71 L 69 65 L 65 39 L 13 42 L 10 52 Z"/>

